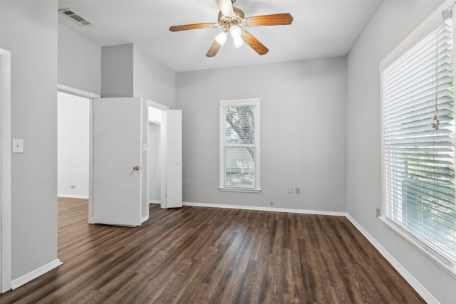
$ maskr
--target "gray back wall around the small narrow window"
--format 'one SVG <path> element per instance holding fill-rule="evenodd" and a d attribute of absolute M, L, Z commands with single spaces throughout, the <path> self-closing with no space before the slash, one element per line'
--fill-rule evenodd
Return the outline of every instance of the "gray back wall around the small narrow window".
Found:
<path fill-rule="evenodd" d="M 177 73 L 176 92 L 184 201 L 346 211 L 345 57 Z M 218 189 L 219 100 L 244 98 L 261 104 L 259 194 Z"/>

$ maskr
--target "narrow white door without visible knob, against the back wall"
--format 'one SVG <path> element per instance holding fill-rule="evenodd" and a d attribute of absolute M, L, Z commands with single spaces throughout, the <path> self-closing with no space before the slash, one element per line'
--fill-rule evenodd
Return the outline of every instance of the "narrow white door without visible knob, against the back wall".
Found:
<path fill-rule="evenodd" d="M 165 110 L 161 145 L 165 169 L 162 176 L 162 208 L 182 207 L 182 110 Z"/>

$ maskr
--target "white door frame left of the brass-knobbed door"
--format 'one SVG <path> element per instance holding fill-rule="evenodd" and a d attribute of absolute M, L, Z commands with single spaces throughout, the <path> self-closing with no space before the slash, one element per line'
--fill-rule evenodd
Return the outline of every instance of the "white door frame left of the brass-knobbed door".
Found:
<path fill-rule="evenodd" d="M 87 98 L 89 103 L 89 168 L 88 168 L 88 221 L 90 223 L 93 214 L 93 100 L 101 98 L 100 95 L 90 93 L 85 90 L 68 87 L 67 85 L 57 85 L 58 92 Z"/>

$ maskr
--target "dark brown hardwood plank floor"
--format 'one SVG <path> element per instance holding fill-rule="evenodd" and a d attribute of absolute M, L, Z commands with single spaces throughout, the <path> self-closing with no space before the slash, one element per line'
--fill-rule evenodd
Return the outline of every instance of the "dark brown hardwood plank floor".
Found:
<path fill-rule="evenodd" d="M 127 228 L 87 214 L 58 199 L 64 264 L 0 303 L 425 303 L 344 217 L 152 204 Z"/>

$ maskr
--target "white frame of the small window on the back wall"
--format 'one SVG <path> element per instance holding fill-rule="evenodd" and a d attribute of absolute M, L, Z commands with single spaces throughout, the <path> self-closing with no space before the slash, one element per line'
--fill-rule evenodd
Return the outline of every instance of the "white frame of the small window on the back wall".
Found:
<path fill-rule="evenodd" d="M 224 108 L 228 106 L 255 105 L 255 185 L 254 187 L 228 187 L 225 186 L 225 166 L 224 166 Z M 219 100 L 219 190 L 229 192 L 252 192 L 259 193 L 260 187 L 260 145 L 259 145 L 259 98 L 239 99 L 239 100 Z"/>

